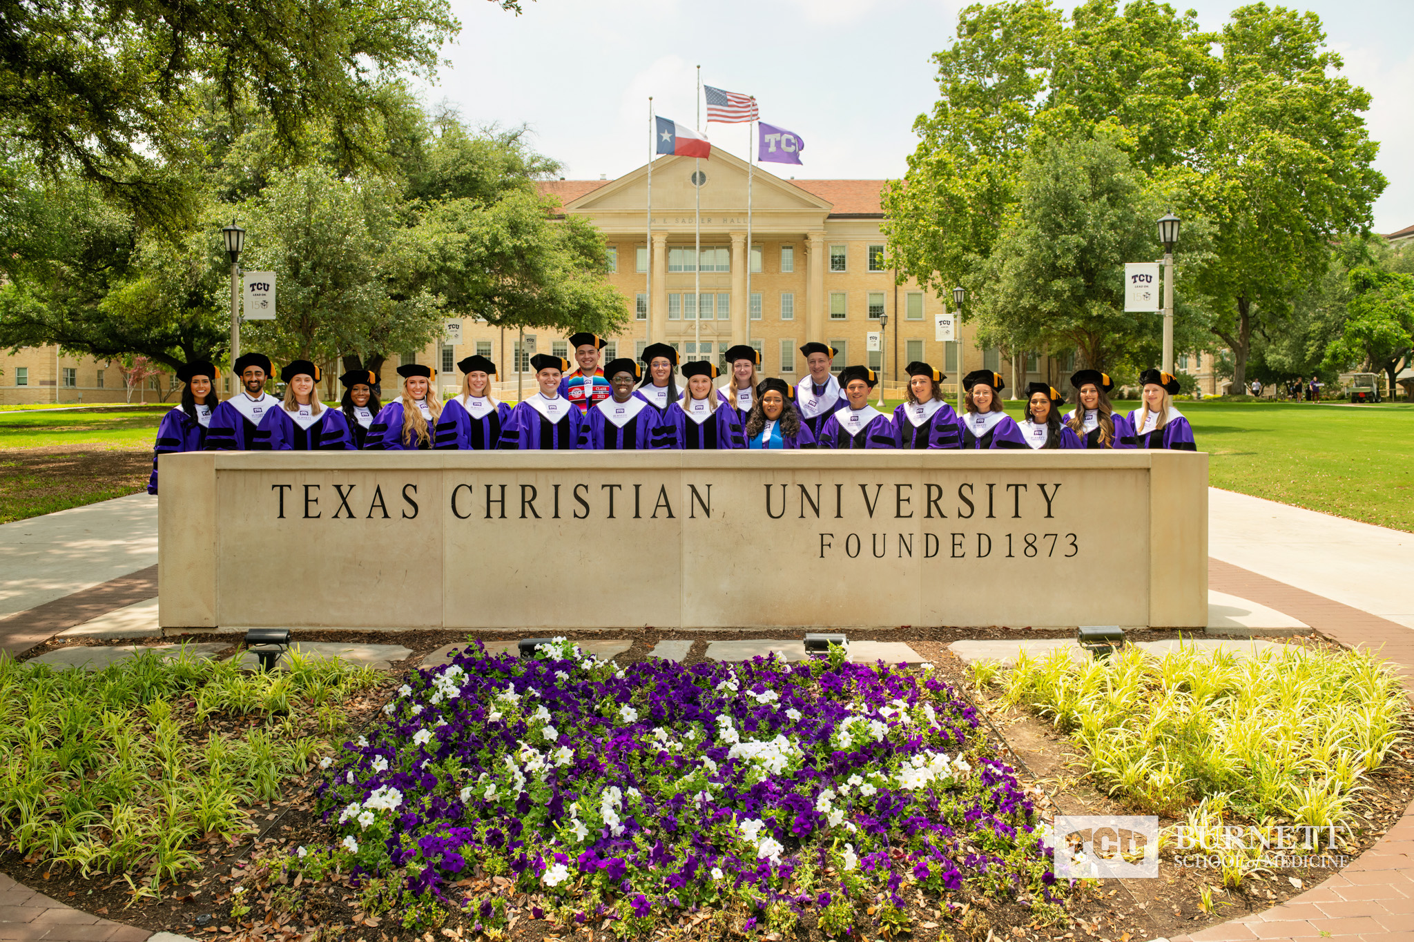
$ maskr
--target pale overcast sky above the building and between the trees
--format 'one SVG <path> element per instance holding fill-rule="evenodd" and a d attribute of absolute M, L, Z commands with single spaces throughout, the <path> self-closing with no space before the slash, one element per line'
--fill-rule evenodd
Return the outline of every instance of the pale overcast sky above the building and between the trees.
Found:
<path fill-rule="evenodd" d="M 648 96 L 658 114 L 696 121 L 703 82 L 755 95 L 765 121 L 806 143 L 805 178 L 892 178 L 936 95 L 929 55 L 953 35 L 957 0 L 526 0 L 519 17 L 486 0 L 452 0 L 461 38 L 426 89 L 474 123 L 529 124 L 534 145 L 571 179 L 609 179 L 648 160 Z M 1070 8 L 1072 3 L 1063 3 Z M 1219 27 L 1237 0 L 1175 3 Z M 1376 232 L 1414 225 L 1414 3 L 1298 0 L 1373 97 L 1366 114 L 1389 178 Z M 747 155 L 745 124 L 708 124 L 717 147 Z"/>

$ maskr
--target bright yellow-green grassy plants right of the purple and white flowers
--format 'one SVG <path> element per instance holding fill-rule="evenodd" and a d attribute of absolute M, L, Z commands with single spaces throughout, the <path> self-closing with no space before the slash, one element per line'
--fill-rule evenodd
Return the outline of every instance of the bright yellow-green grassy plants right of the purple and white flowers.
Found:
<path fill-rule="evenodd" d="M 1239 657 L 1184 643 L 1154 657 L 1130 645 L 1079 662 L 1022 652 L 1010 671 L 973 676 L 1068 733 L 1113 798 L 1159 815 L 1222 795 L 1250 821 L 1340 823 L 1408 720 L 1391 665 L 1367 651 Z"/>

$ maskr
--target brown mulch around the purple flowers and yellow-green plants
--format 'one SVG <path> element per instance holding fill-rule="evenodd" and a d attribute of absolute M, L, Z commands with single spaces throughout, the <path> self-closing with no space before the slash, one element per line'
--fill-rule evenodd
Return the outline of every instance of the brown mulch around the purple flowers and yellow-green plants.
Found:
<path fill-rule="evenodd" d="M 995 734 L 998 751 L 1018 773 L 1022 784 L 1035 785 L 1044 791 L 1051 811 L 1058 813 L 1128 813 L 1126 808 L 1104 794 L 1089 788 L 1080 780 L 1075 767 L 1075 747 L 1056 736 L 1044 722 L 1029 713 L 1001 709 L 994 700 L 978 695 L 967 681 L 960 660 L 947 651 L 954 640 L 1022 638 L 1022 637 L 1066 637 L 1066 633 L 1029 631 L 1010 628 L 894 628 L 881 631 L 850 631 L 851 640 L 906 641 L 918 654 L 930 660 L 960 689 L 978 703 L 987 717 L 991 733 Z M 506 641 L 519 637 L 518 633 L 469 633 L 485 641 Z M 618 655 L 619 664 L 646 660 L 652 647 L 667 638 L 693 638 L 694 644 L 686 658 L 687 664 L 701 661 L 710 640 L 734 638 L 778 638 L 799 640 L 799 631 L 660 631 L 656 628 L 624 628 L 601 631 L 567 631 L 575 640 L 632 640 L 633 645 Z M 1131 640 L 1161 640 L 1176 637 L 1176 631 L 1135 631 Z M 194 633 L 194 640 L 214 641 L 230 638 L 229 634 L 214 636 Z M 349 732 L 339 739 L 354 739 L 365 723 L 376 722 L 378 710 L 390 692 L 402 684 L 407 671 L 416 669 L 423 655 L 443 647 L 465 641 L 465 631 L 294 631 L 296 641 L 358 641 L 362 644 L 400 644 L 413 650 L 413 655 L 399 662 L 390 672 L 390 682 L 378 691 L 363 695 L 351 713 Z M 170 643 L 173 638 L 144 638 L 137 644 Z M 1294 644 L 1335 647 L 1319 637 L 1281 638 Z M 38 645 L 24 658 L 45 650 L 74 644 L 133 644 L 133 640 L 93 641 L 89 638 L 54 640 Z M 232 648 L 233 650 L 233 648 Z M 243 720 L 249 722 L 249 720 Z M 204 733 L 202 733 L 204 734 Z M 276 860 L 291 853 L 301 845 L 328 843 L 328 829 L 314 813 L 314 785 L 320 773 L 314 771 L 291 780 L 286 798 L 257 809 L 259 833 L 236 846 L 204 845 L 202 870 L 188 874 L 180 884 L 163 888 L 161 901 L 132 902 L 126 881 L 100 874 L 99 878 L 83 880 L 76 873 L 45 870 L 37 864 L 20 860 L 16 854 L 0 854 L 0 870 L 27 886 L 48 895 L 78 905 L 88 912 L 96 912 L 109 919 L 127 922 L 150 931 L 171 931 L 194 938 L 242 938 L 280 939 L 312 942 L 312 939 L 348 939 L 349 942 L 392 942 L 393 939 L 436 939 L 474 938 L 469 931 L 475 919 L 464 919 L 451 914 L 434 932 L 409 931 L 397 922 L 397 912 L 382 918 L 365 912 L 361 904 L 361 888 L 351 886 L 346 876 L 335 876 L 312 884 L 290 881 L 262 866 L 262 859 Z M 1391 753 L 1390 761 L 1366 782 L 1369 791 L 1360 792 L 1350 822 L 1356 828 L 1353 843 L 1345 853 L 1357 856 L 1379 839 L 1403 813 L 1414 797 L 1414 753 Z M 1172 821 L 1161 819 L 1161 825 Z M 1179 869 L 1161 864 L 1158 880 L 1102 880 L 1093 888 L 1077 888 L 1072 894 L 1069 925 L 1039 926 L 1031 922 L 1029 912 L 1015 908 L 998 908 L 986 898 L 971 900 L 966 911 L 943 918 L 942 912 L 921 894 L 909 900 L 908 915 L 913 926 L 906 938 L 918 942 L 935 942 L 947 938 L 969 942 L 1001 942 L 1003 939 L 1097 939 L 1099 942 L 1131 942 L 1155 936 L 1174 936 L 1199 931 L 1208 925 L 1239 918 L 1250 912 L 1267 910 L 1288 900 L 1305 888 L 1311 888 L 1333 870 L 1281 870 L 1268 874 L 1249 876 L 1240 891 L 1215 893 L 1216 912 L 1199 908 L 1202 884 L 1219 886 L 1220 877 L 1213 871 Z M 605 942 L 612 934 L 605 926 L 588 925 L 577 931 L 556 929 L 543 919 L 533 918 L 534 898 L 515 893 L 501 878 L 472 874 L 462 881 L 471 893 L 503 890 L 506 911 L 512 917 L 509 932 L 493 936 L 496 942 Z M 240 897 L 250 905 L 249 914 L 240 919 L 230 918 L 232 890 L 243 887 Z M 711 914 L 684 914 L 682 924 L 665 938 L 724 938 L 727 934 Z M 806 914 L 795 934 L 796 942 L 823 942 L 813 914 Z M 779 942 L 778 936 L 765 935 L 762 942 Z"/>

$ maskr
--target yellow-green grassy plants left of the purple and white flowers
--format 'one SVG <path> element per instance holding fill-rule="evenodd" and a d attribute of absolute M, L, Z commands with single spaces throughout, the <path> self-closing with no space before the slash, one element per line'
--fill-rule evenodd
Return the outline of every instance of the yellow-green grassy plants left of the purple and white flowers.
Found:
<path fill-rule="evenodd" d="M 0 658 L 0 847 L 83 877 L 123 871 L 134 898 L 158 895 L 199 866 L 197 840 L 249 833 L 252 806 L 280 798 L 328 751 L 298 734 L 300 717 L 327 715 L 380 678 L 288 658 L 290 669 L 274 674 L 187 650 L 93 674 Z M 201 737 L 212 717 L 249 715 L 255 726 Z"/>

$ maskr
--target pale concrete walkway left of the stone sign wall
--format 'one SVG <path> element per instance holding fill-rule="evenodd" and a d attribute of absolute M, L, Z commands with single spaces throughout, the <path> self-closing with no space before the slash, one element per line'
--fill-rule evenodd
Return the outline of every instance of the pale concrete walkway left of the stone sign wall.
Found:
<path fill-rule="evenodd" d="M 157 497 L 0 524 L 0 619 L 157 565 Z"/>

